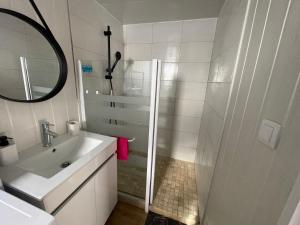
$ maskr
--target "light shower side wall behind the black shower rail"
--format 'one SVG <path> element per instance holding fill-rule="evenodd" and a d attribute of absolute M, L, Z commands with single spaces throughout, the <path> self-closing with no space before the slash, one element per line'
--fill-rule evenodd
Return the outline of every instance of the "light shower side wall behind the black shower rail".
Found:
<path fill-rule="evenodd" d="M 108 46 L 104 31 L 109 25 L 112 32 L 112 64 L 115 62 L 115 52 L 120 51 L 122 54 L 122 60 L 115 68 L 112 79 L 114 94 L 122 95 L 124 84 L 123 25 L 96 0 L 68 0 L 68 2 L 76 71 L 78 60 L 82 64 L 93 67 L 92 73 L 83 73 L 83 89 L 85 93 L 88 91 L 84 97 L 87 129 L 91 132 L 113 135 L 111 130 L 120 130 L 120 128 L 112 128 L 105 123 L 107 102 L 100 101 L 100 95 L 110 94 L 110 84 L 105 79 L 108 67 Z M 115 136 L 118 135 L 115 134 Z"/>

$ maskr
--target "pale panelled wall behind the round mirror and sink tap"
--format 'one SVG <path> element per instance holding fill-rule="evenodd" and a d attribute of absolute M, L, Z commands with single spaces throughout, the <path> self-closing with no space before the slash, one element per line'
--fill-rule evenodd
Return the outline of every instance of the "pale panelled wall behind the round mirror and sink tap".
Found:
<path fill-rule="evenodd" d="M 78 119 L 67 0 L 39 0 L 37 5 L 65 52 L 69 73 L 64 89 L 48 101 L 24 104 L 0 100 L 0 132 L 14 137 L 19 151 L 41 141 L 39 120 L 47 119 L 54 123 L 53 129 L 62 134 L 66 131 L 67 120 Z M 29 1 L 0 0 L 0 7 L 38 20 Z"/>

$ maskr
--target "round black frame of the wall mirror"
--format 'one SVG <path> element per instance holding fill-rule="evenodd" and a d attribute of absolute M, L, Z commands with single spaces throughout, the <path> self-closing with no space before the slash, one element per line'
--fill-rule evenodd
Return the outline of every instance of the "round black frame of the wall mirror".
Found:
<path fill-rule="evenodd" d="M 55 87 L 52 89 L 52 91 L 49 94 L 47 94 L 39 99 L 19 100 L 19 99 L 8 98 L 6 96 L 2 96 L 1 94 L 0 94 L 0 98 L 9 100 L 9 101 L 23 102 L 23 103 L 43 102 L 43 101 L 49 100 L 50 98 L 53 98 L 55 95 L 57 95 L 63 89 L 63 87 L 67 81 L 68 64 L 67 64 L 67 60 L 66 60 L 66 57 L 65 57 L 65 54 L 64 54 L 62 48 L 60 47 L 60 45 L 58 44 L 58 42 L 56 41 L 55 37 L 53 36 L 53 34 L 51 33 L 51 31 L 49 29 L 46 29 L 41 24 L 39 24 L 35 20 L 29 18 L 28 16 L 25 16 L 16 11 L 4 9 L 4 8 L 0 8 L 0 13 L 6 13 L 8 15 L 14 16 L 14 17 L 26 22 L 27 24 L 29 24 L 33 28 L 35 28 L 37 31 L 39 31 L 40 34 L 42 34 L 42 36 L 46 38 L 46 40 L 49 42 L 49 44 L 53 48 L 53 50 L 58 58 L 59 69 L 60 69 L 58 81 L 57 81 Z"/>

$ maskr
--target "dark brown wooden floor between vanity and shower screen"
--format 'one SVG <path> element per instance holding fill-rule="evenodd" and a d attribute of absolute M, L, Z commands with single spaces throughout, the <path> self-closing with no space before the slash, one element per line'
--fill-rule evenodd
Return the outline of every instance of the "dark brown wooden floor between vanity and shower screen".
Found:
<path fill-rule="evenodd" d="M 118 202 L 105 225 L 145 225 L 146 217 L 143 209 Z"/>

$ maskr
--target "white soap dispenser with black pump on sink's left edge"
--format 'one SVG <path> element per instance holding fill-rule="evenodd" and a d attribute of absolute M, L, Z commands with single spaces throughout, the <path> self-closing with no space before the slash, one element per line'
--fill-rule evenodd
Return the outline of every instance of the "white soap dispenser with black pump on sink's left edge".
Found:
<path fill-rule="evenodd" d="M 8 166 L 18 161 L 19 155 L 12 138 L 0 136 L 0 166 Z"/>

